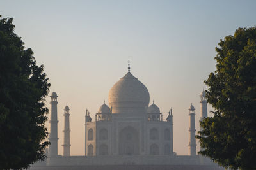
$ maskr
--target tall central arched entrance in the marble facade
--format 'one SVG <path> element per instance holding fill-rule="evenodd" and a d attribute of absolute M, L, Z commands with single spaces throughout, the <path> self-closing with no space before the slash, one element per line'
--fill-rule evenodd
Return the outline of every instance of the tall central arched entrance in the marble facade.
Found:
<path fill-rule="evenodd" d="M 139 134 L 134 127 L 128 126 L 119 133 L 119 155 L 138 155 Z"/>

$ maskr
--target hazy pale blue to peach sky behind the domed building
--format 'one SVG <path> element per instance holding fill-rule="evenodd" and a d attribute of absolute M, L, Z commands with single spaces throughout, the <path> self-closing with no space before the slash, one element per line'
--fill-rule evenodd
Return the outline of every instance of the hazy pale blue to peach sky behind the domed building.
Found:
<path fill-rule="evenodd" d="M 127 73 L 146 85 L 165 120 L 173 108 L 173 148 L 188 155 L 188 108 L 199 128 L 203 81 L 215 46 L 238 27 L 256 25 L 256 1 L 3 1 L 15 32 L 44 64 L 58 93 L 58 153 L 63 108 L 70 106 L 71 155 L 84 155 L 84 113 L 93 120 L 109 89 Z M 49 97 L 47 97 L 47 106 Z M 49 107 L 50 108 L 50 107 Z M 49 123 L 47 122 L 47 127 Z M 199 146 L 197 146 L 198 150 Z"/>

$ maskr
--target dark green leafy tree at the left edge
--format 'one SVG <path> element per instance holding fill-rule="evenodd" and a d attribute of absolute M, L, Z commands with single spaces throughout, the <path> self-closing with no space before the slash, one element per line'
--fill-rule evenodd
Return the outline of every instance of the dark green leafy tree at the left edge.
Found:
<path fill-rule="evenodd" d="M 49 142 L 45 97 L 50 84 L 31 48 L 0 15 L 0 169 L 20 169 L 44 160 Z"/>

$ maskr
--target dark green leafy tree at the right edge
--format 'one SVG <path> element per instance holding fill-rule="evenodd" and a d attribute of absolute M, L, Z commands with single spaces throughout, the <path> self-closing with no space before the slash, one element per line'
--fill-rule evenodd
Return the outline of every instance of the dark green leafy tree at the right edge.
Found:
<path fill-rule="evenodd" d="M 218 45 L 216 71 L 204 81 L 215 111 L 200 122 L 199 153 L 231 169 L 256 169 L 256 27 Z"/>

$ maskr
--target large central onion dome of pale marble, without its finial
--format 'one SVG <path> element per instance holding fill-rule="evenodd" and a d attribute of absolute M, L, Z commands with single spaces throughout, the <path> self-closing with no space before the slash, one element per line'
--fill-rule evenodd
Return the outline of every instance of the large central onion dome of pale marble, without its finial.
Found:
<path fill-rule="evenodd" d="M 145 113 L 149 93 L 147 87 L 128 72 L 109 90 L 108 101 L 112 113 Z"/>

